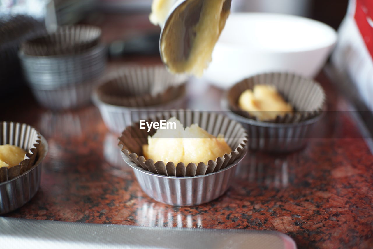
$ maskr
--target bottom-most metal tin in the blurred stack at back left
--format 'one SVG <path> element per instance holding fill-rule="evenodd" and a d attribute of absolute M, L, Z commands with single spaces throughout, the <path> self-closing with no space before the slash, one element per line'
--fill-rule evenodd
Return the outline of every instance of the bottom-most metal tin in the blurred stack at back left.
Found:
<path fill-rule="evenodd" d="M 88 80 L 87 82 L 63 86 L 60 88 L 48 88 L 32 86 L 32 94 L 38 103 L 45 108 L 62 110 L 81 107 L 90 103 L 91 93 L 99 84 L 99 79 Z"/>

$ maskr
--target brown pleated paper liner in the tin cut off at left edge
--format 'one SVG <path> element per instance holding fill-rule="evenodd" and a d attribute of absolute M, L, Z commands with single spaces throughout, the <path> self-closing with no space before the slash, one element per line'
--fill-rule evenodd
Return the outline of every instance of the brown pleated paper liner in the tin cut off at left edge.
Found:
<path fill-rule="evenodd" d="M 13 167 L 0 167 L 0 182 L 5 182 L 22 175 L 31 169 L 37 160 L 40 133 L 28 124 L 1 122 L 0 144 L 16 145 L 26 151 L 25 159 Z"/>

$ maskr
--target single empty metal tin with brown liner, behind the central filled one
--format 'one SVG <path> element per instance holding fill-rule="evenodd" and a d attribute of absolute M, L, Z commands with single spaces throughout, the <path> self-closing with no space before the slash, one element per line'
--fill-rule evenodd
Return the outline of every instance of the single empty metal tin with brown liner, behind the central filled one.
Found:
<path fill-rule="evenodd" d="M 120 133 L 132 120 L 147 119 L 155 111 L 184 108 L 185 76 L 164 67 L 123 67 L 101 84 L 92 99 L 109 130 Z"/>

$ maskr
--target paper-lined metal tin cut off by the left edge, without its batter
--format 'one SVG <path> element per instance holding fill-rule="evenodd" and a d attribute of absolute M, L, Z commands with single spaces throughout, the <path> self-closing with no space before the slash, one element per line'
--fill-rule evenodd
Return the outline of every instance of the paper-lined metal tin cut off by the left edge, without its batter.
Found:
<path fill-rule="evenodd" d="M 25 171 L 22 172 L 21 170 L 20 175 L 0 183 L 0 214 L 4 214 L 25 205 L 38 191 L 41 178 L 41 162 L 47 155 L 48 144 L 43 136 L 27 124 L 2 122 L 0 130 L 1 144 L 17 145 L 29 151 L 26 154 L 29 159 L 21 162 L 22 165 L 26 160 L 29 160 Z M 37 143 L 34 143 L 35 141 Z M 3 171 L 2 168 L 0 168 L 1 171 Z"/>

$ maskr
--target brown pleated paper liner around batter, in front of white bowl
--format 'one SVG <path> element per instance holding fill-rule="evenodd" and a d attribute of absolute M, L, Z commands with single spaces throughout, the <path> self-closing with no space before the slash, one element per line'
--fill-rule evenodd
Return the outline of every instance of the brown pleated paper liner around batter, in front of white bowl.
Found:
<path fill-rule="evenodd" d="M 319 83 L 291 73 L 264 73 L 244 79 L 232 86 L 227 94 L 229 109 L 248 119 L 255 116 L 242 110 L 238 105 L 239 96 L 257 84 L 275 86 L 282 97 L 294 108 L 292 114 L 277 116 L 274 120 L 258 120 L 272 123 L 297 123 L 318 116 L 325 107 L 326 96 Z"/>

